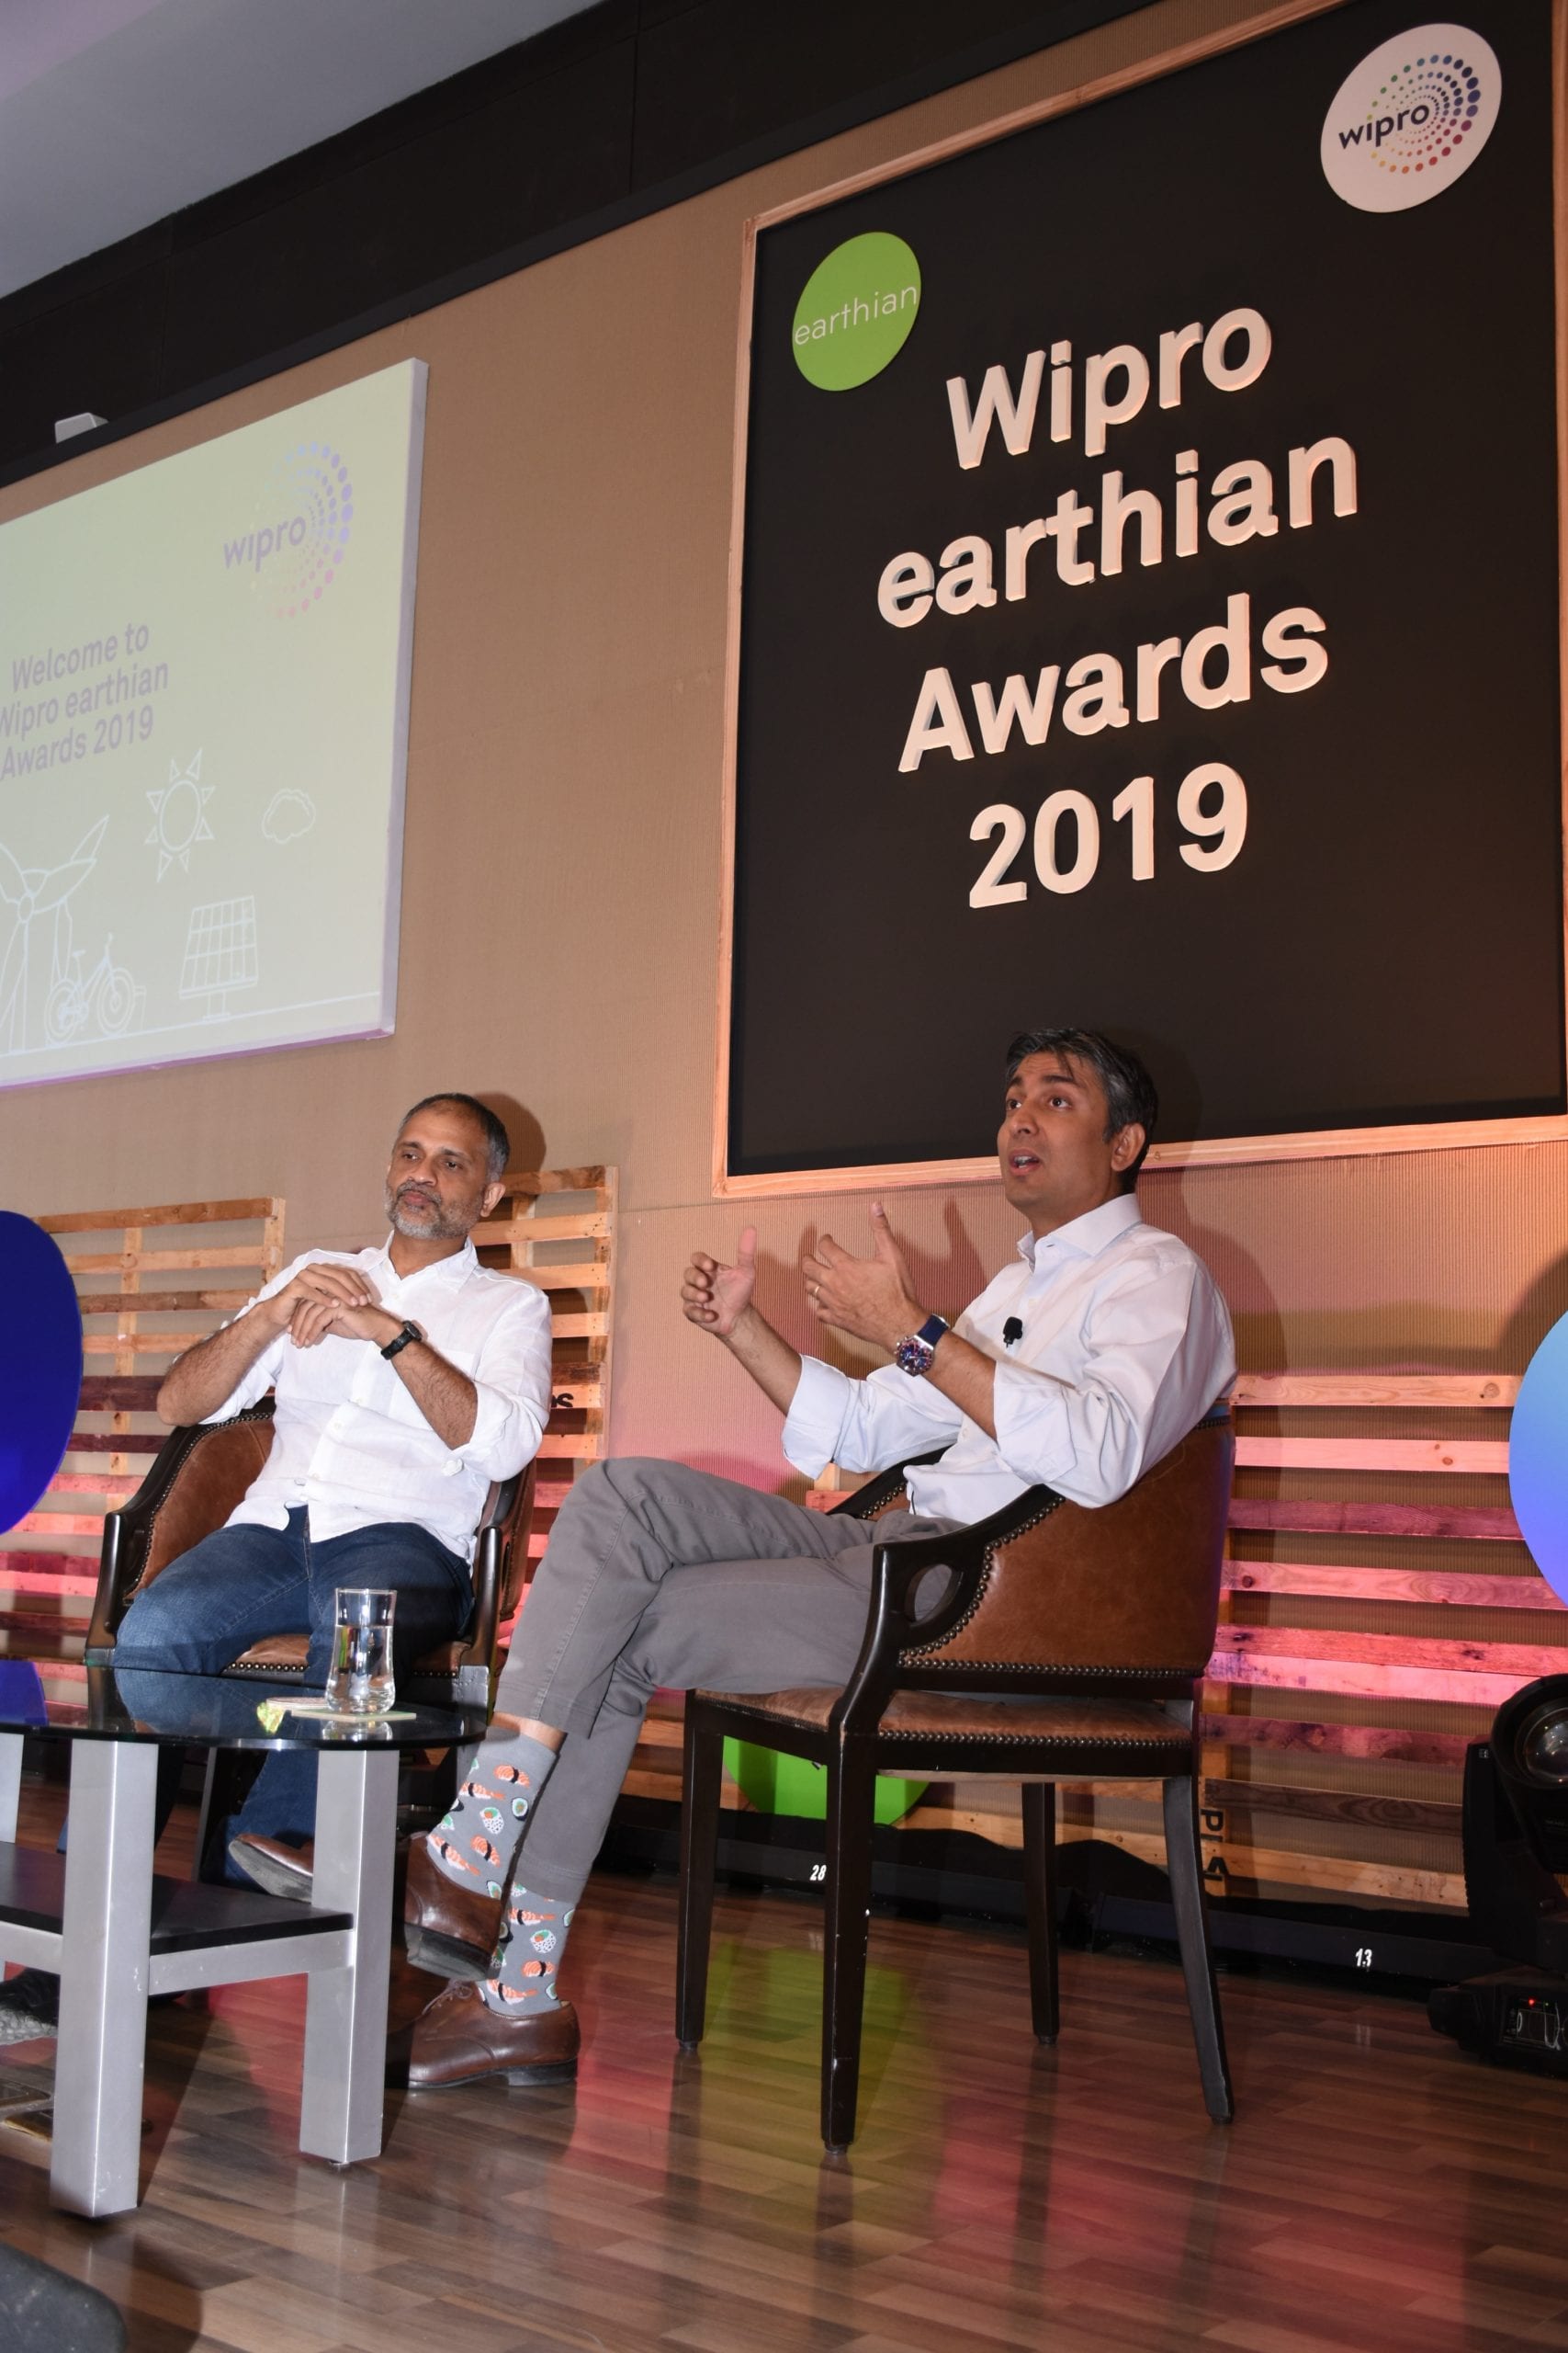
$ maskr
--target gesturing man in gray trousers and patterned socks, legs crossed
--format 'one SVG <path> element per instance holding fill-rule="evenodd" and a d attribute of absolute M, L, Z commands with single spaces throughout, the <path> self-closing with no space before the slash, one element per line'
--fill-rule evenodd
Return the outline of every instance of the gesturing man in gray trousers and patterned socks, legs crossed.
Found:
<path fill-rule="evenodd" d="M 686 1320 L 785 1414 L 783 1449 L 910 1471 L 910 1508 L 860 1520 L 663 1461 L 609 1461 L 562 1506 L 456 1805 L 409 1854 L 409 1958 L 451 1981 L 421 2014 L 409 2085 L 505 2073 L 559 2082 L 578 2024 L 557 1977 L 642 1718 L 661 1687 L 839 1687 L 860 1652 L 875 1544 L 966 1527 L 1046 1485 L 1112 1504 L 1234 1379 L 1229 1318 L 1133 1195 L 1159 1101 L 1095 1031 L 1016 1038 L 997 1151 L 1030 1226 L 1018 1264 L 947 1327 L 917 1299 L 886 1214 L 872 1257 L 823 1238 L 804 1259 L 818 1322 L 893 1358 L 851 1381 L 802 1358 L 752 1301 L 757 1235 L 733 1266 L 696 1252 Z M 933 1572 L 936 1607 L 945 1584 Z"/>

